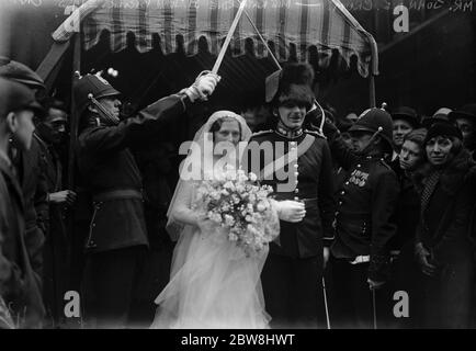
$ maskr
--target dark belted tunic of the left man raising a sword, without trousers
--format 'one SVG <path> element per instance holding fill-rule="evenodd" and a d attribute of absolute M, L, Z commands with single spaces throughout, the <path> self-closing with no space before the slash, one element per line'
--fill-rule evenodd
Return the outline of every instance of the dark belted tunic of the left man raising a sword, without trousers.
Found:
<path fill-rule="evenodd" d="M 157 101 L 117 126 L 89 126 L 79 136 L 79 169 L 92 193 L 94 212 L 88 252 L 148 246 L 141 177 L 129 147 L 157 135 L 184 112 L 179 95 Z"/>

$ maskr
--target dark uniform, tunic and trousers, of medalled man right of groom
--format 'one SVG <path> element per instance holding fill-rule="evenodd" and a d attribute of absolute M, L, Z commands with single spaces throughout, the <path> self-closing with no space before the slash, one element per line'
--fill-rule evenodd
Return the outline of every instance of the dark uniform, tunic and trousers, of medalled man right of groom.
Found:
<path fill-rule="evenodd" d="M 396 234 L 393 216 L 399 184 L 381 156 L 356 155 L 337 129 L 326 135 L 333 158 L 348 171 L 338 190 L 331 246 L 331 317 L 335 325 L 372 328 L 373 299 L 367 279 L 388 280 L 388 241 Z M 390 292 L 385 286 L 375 295 L 379 322 L 388 320 L 392 310 Z"/>

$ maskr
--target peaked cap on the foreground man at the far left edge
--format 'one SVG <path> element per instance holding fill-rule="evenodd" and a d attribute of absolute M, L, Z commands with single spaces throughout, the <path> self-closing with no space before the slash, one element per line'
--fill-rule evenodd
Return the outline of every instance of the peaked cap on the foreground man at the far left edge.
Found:
<path fill-rule="evenodd" d="M 0 78 L 0 118 L 19 110 L 32 110 L 36 115 L 44 114 L 31 89 L 16 81 Z"/>

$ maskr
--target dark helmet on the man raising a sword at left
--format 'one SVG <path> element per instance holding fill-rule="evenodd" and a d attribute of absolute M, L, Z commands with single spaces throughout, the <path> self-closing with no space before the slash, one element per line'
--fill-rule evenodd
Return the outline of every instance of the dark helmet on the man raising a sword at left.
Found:
<path fill-rule="evenodd" d="M 79 113 L 90 104 L 89 94 L 94 99 L 116 97 L 121 93 L 115 90 L 107 80 L 99 75 L 84 75 L 80 77 L 73 87 L 75 102 Z"/>

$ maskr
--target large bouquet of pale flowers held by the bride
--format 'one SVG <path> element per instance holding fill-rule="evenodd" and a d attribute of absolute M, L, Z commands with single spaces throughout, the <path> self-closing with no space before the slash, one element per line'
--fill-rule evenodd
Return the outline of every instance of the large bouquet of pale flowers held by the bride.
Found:
<path fill-rule="evenodd" d="M 197 189 L 196 208 L 207 219 L 225 228 L 228 240 L 247 257 L 261 252 L 279 235 L 279 220 L 269 195 L 272 188 L 258 185 L 257 176 L 227 168 Z"/>

